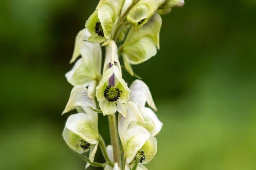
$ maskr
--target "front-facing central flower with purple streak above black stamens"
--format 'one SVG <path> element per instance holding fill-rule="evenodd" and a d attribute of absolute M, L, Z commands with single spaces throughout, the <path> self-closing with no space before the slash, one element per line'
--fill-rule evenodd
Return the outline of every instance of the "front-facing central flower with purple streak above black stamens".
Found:
<path fill-rule="evenodd" d="M 103 76 L 96 87 L 96 97 L 103 115 L 111 115 L 118 111 L 125 117 L 126 109 L 123 103 L 128 101 L 129 93 L 130 89 L 122 79 L 116 43 L 110 41 L 106 48 Z"/>

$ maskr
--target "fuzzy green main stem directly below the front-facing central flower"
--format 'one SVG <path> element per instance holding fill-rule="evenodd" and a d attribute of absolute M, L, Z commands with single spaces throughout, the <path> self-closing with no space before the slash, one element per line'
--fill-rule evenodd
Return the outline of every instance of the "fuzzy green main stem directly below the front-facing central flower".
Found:
<path fill-rule="evenodd" d="M 120 146 L 118 141 L 118 133 L 116 126 L 116 114 L 108 115 L 109 131 L 111 137 L 111 144 L 113 146 L 113 156 L 114 162 L 117 162 L 118 165 L 121 165 L 121 156 L 120 156 Z"/>

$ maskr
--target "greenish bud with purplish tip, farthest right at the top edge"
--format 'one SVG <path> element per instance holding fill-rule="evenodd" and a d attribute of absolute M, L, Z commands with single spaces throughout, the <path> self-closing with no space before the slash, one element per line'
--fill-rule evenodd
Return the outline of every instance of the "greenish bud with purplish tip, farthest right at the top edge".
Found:
<path fill-rule="evenodd" d="M 157 13 L 165 15 L 170 13 L 173 7 L 182 7 L 184 4 L 184 0 L 166 0 L 164 4 L 158 8 Z"/>

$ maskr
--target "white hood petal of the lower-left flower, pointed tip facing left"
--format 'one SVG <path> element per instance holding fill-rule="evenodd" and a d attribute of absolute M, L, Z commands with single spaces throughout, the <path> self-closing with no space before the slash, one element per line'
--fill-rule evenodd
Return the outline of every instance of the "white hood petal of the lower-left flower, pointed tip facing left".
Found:
<path fill-rule="evenodd" d="M 70 93 L 68 103 L 64 111 L 62 112 L 62 115 L 77 107 L 82 107 L 83 109 L 85 109 L 86 107 L 93 107 L 93 108 L 96 107 L 95 101 L 89 97 L 88 90 L 86 87 L 83 87 L 83 86 L 73 87 Z"/>

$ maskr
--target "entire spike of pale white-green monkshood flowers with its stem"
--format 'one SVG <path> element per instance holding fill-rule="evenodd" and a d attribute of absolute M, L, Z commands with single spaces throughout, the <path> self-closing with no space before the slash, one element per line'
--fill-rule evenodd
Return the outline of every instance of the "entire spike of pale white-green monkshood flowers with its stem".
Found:
<path fill-rule="evenodd" d="M 68 117 L 62 135 L 67 145 L 87 162 L 86 168 L 92 165 L 105 170 L 145 170 L 143 164 L 154 158 L 155 136 L 163 124 L 155 114 L 148 85 L 131 65 L 156 55 L 160 15 L 183 5 L 183 0 L 100 0 L 85 28 L 77 34 L 70 60 L 76 63 L 65 75 L 74 87 L 62 114 L 74 109 L 77 113 Z M 117 47 L 116 42 L 121 45 Z M 106 53 L 101 66 L 103 46 Z M 122 69 L 139 79 L 128 87 Z M 98 131 L 99 113 L 108 116 L 112 145 L 106 146 Z M 98 146 L 105 163 L 94 161 Z"/>

